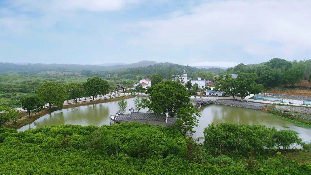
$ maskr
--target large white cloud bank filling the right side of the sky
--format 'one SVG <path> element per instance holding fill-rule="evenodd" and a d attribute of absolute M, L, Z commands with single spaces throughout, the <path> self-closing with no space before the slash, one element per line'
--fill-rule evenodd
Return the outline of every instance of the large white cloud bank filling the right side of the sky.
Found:
<path fill-rule="evenodd" d="M 222 60 L 291 58 L 311 49 L 311 1 L 211 1 L 172 16 L 132 24 L 143 32 L 129 44 L 160 53 L 213 53 Z"/>

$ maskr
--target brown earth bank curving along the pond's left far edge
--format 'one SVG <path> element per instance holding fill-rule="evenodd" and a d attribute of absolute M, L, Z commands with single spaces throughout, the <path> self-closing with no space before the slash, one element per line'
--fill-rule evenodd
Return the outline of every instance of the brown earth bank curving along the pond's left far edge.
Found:
<path fill-rule="evenodd" d="M 98 103 L 105 103 L 105 102 L 111 102 L 111 101 L 117 101 L 117 100 L 121 100 L 121 99 L 128 99 L 128 98 L 132 98 L 135 97 L 136 95 L 130 94 L 130 95 L 124 95 L 124 96 L 119 96 L 119 97 L 113 97 L 113 98 L 109 98 L 109 99 L 98 99 L 98 100 L 91 100 L 91 101 L 82 101 L 82 102 L 77 102 L 77 103 L 70 103 L 70 104 L 64 104 L 63 105 L 63 109 L 67 109 L 67 108 L 72 108 L 72 107 L 78 107 L 78 106 L 85 106 L 85 105 L 89 105 L 89 104 L 98 104 Z M 41 111 L 39 111 L 39 113 L 32 113 L 30 114 L 30 118 L 28 117 L 28 114 L 19 118 L 16 122 L 16 125 L 13 125 L 12 122 L 9 122 L 5 125 L 5 127 L 7 128 L 20 128 L 22 126 L 25 126 L 31 122 L 34 122 L 35 120 L 37 120 L 38 118 L 49 114 L 53 111 L 57 111 L 60 110 L 61 108 L 59 108 L 59 106 L 55 106 L 52 107 L 51 110 L 49 110 L 49 108 L 44 108 Z"/>

